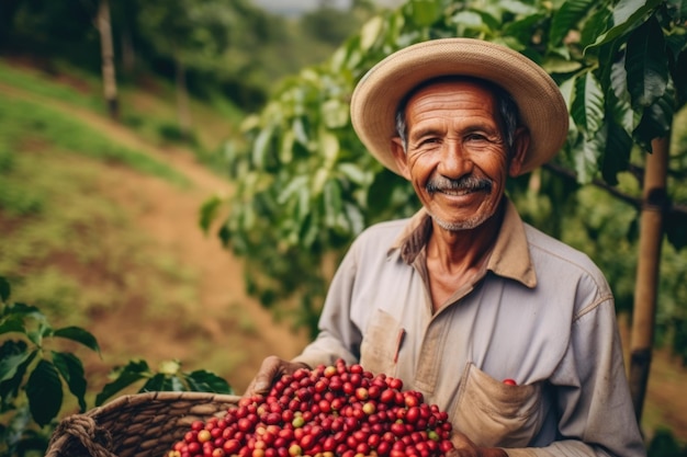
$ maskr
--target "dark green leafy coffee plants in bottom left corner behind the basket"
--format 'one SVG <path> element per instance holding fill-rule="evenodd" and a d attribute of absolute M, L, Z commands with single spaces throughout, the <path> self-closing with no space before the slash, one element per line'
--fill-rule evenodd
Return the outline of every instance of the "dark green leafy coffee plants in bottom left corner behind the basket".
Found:
<path fill-rule="evenodd" d="M 0 456 L 45 452 L 60 414 L 68 414 L 65 390 L 88 408 L 83 363 L 63 341 L 100 354 L 93 334 L 79 327 L 54 328 L 35 306 L 10 302 L 11 287 L 0 276 Z M 74 344 L 72 344 L 74 345 Z M 138 386 L 142 385 L 142 386 Z M 124 389 L 233 393 L 226 380 L 204 369 L 185 373 L 181 364 L 161 364 L 156 373 L 145 361 L 131 361 L 112 372 L 95 396 L 102 404 Z"/>

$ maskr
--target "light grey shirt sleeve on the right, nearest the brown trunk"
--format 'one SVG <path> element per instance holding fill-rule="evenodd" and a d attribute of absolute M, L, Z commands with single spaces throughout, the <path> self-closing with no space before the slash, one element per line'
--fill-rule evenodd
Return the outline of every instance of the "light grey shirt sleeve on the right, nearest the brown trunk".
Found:
<path fill-rule="evenodd" d="M 579 311 L 568 350 L 550 379 L 560 439 L 541 448 L 505 449 L 510 457 L 643 457 L 612 298 Z"/>

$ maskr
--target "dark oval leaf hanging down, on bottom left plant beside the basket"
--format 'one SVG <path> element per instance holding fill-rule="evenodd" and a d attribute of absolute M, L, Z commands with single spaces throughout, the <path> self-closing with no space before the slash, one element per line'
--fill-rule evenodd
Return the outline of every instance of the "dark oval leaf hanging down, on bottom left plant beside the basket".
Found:
<path fill-rule="evenodd" d="M 45 426 L 57 416 L 63 404 L 63 386 L 55 366 L 40 361 L 26 382 L 29 408 L 34 421 Z"/>

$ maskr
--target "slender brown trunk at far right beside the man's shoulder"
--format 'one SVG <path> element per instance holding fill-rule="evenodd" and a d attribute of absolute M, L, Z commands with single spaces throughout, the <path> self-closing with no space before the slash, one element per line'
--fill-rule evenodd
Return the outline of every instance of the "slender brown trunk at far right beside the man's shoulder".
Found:
<path fill-rule="evenodd" d="M 630 390 L 638 422 L 642 419 L 654 340 L 663 217 L 668 207 L 668 138 L 653 140 L 653 152 L 647 155 L 644 172 L 630 354 Z"/>

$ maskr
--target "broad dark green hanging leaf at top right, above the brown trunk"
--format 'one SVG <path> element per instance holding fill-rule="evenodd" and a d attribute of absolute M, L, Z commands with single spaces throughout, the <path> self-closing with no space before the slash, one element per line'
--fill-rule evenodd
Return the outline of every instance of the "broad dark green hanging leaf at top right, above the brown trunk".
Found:
<path fill-rule="evenodd" d="M 626 70 L 634 110 L 651 105 L 665 93 L 668 84 L 667 61 L 663 31 L 653 18 L 628 38 Z"/>

